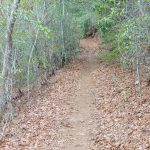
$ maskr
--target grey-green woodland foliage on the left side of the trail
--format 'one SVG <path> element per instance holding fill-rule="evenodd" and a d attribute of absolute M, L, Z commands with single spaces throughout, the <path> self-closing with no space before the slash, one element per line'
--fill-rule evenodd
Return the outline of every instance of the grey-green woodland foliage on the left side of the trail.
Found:
<path fill-rule="evenodd" d="M 94 22 L 93 1 L 64 2 L 64 6 L 59 0 L 20 2 L 10 62 L 13 82 L 18 87 L 26 85 L 27 81 L 34 82 L 41 74 L 51 74 L 74 59 L 79 52 L 79 40 L 85 37 L 86 30 Z M 0 3 L 0 69 L 6 43 L 7 15 L 10 14 L 12 3 Z"/>

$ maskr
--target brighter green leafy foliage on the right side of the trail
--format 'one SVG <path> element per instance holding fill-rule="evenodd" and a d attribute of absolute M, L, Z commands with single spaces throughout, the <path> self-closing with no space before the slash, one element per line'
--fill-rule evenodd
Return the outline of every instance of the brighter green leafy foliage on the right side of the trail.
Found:
<path fill-rule="evenodd" d="M 123 64 L 131 65 L 135 61 L 137 49 L 144 52 L 141 45 L 149 45 L 149 8 L 146 5 L 148 2 L 144 1 L 144 3 L 123 0 L 95 3 L 101 40 L 110 43 L 110 49 L 114 51 L 102 56 L 104 60 L 116 58 L 117 53 Z M 143 9 L 142 13 L 141 9 Z"/>

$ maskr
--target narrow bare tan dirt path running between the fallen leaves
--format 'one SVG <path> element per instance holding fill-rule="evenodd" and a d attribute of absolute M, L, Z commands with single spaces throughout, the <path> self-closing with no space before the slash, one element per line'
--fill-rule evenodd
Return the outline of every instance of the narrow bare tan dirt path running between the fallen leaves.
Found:
<path fill-rule="evenodd" d="M 74 111 L 68 114 L 66 125 L 62 130 L 62 136 L 66 139 L 64 150 L 88 150 L 90 143 L 91 114 L 95 108 L 92 92 L 95 82 L 91 73 L 98 68 L 96 51 L 99 47 L 97 38 L 81 41 L 81 54 L 79 80 L 74 98 L 71 99 L 71 108 Z M 65 124 L 65 123 L 64 123 Z"/>

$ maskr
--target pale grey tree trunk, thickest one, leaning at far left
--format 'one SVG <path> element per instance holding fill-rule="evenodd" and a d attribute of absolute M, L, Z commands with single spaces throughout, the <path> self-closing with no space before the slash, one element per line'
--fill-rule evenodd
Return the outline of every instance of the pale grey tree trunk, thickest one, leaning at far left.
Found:
<path fill-rule="evenodd" d="M 16 21 L 16 12 L 18 10 L 19 3 L 20 3 L 20 0 L 14 0 L 14 3 L 12 5 L 11 14 L 7 20 L 6 47 L 5 47 L 5 51 L 4 51 L 3 68 L 2 68 L 3 99 L 1 100 L 1 104 L 0 104 L 0 112 L 2 112 L 4 110 L 7 100 L 8 100 L 8 98 L 10 98 L 9 96 L 6 96 L 9 92 L 9 88 L 8 88 L 7 84 L 9 81 L 10 58 L 11 58 L 12 45 L 13 45 L 12 35 L 13 35 L 14 25 L 15 25 L 15 21 Z"/>

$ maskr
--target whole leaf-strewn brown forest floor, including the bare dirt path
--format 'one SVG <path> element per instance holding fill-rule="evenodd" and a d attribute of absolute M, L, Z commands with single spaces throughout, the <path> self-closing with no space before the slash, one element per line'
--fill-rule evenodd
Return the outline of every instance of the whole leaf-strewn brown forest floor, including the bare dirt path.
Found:
<path fill-rule="evenodd" d="M 133 72 L 98 60 L 106 50 L 97 37 L 81 40 L 78 58 L 33 89 L 30 102 L 15 100 L 0 149 L 150 149 L 150 89 L 143 77 L 136 98 Z"/>

